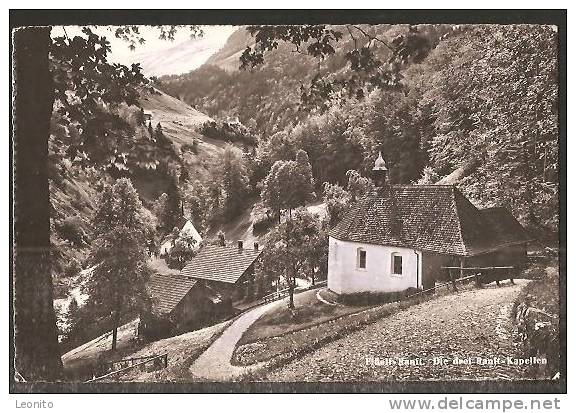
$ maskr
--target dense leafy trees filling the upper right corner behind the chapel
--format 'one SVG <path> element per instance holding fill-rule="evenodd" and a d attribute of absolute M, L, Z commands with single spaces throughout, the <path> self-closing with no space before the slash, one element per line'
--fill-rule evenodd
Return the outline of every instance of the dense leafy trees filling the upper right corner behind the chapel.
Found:
<path fill-rule="evenodd" d="M 533 229 L 558 225 L 556 38 L 549 26 L 471 27 L 414 68 L 435 126 L 423 136 L 430 166 L 444 175 L 476 159 L 464 191 Z"/>

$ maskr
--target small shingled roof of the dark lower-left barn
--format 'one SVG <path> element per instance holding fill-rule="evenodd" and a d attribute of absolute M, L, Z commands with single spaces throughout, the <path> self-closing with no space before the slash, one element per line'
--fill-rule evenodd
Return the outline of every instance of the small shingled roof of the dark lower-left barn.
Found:
<path fill-rule="evenodd" d="M 182 301 L 197 280 L 177 274 L 154 274 L 148 281 L 153 300 L 153 309 L 160 314 L 169 314 Z"/>

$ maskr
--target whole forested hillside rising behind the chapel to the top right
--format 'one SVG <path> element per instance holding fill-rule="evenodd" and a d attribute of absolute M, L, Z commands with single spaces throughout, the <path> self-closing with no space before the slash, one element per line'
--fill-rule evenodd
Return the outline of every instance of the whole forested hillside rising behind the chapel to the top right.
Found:
<path fill-rule="evenodd" d="M 368 175 L 381 150 L 394 182 L 435 183 L 462 168 L 457 184 L 478 206 L 508 206 L 538 236 L 554 237 L 554 27 L 417 26 L 412 39 L 421 43 L 421 52 L 401 61 L 393 72 L 399 80 L 372 82 L 360 93 L 347 93 L 350 82 L 333 88 L 342 76 L 356 84 L 365 80 L 351 69 L 365 63 L 362 56 L 353 60 L 347 53 L 365 44 L 377 63 L 391 65 L 383 43 L 394 44 L 407 27 L 362 26 L 350 35 L 348 26 L 332 29 L 342 38 L 333 53 L 321 58 L 278 36 L 277 48 L 266 51 L 262 64 L 232 70 L 230 58 L 254 44 L 246 29 L 239 29 L 213 64 L 164 77 L 162 88 L 214 118 L 235 115 L 250 127 L 259 136 L 259 178 L 276 160 L 294 159 L 304 149 L 317 188 L 323 182 L 343 185 L 349 169 Z M 326 88 L 321 99 L 311 93 L 314 87 Z"/>

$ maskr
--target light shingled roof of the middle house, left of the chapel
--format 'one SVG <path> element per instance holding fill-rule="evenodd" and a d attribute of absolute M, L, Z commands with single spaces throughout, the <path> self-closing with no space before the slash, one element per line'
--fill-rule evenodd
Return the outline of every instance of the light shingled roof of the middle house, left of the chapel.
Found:
<path fill-rule="evenodd" d="M 262 251 L 235 245 L 207 245 L 182 270 L 182 275 L 234 284 Z"/>

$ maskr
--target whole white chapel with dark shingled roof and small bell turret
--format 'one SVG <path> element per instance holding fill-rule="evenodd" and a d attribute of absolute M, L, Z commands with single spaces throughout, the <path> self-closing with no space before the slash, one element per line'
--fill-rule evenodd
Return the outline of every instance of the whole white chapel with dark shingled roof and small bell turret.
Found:
<path fill-rule="evenodd" d="M 471 273 L 491 281 L 524 264 L 531 239 L 506 209 L 478 209 L 453 185 L 391 185 L 382 154 L 373 171 L 376 191 L 329 232 L 333 292 L 428 289 Z"/>

